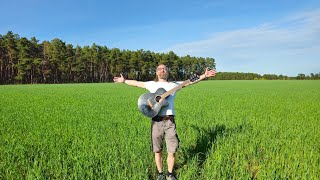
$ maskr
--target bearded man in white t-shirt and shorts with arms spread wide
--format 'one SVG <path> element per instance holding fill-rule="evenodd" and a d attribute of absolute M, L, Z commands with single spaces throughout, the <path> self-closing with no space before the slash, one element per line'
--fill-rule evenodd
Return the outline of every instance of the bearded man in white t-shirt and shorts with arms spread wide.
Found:
<path fill-rule="evenodd" d="M 190 82 L 185 86 L 197 83 L 207 77 L 215 76 L 215 70 L 208 70 L 206 68 L 205 73 L 202 74 L 197 81 Z M 181 84 L 182 82 L 168 82 L 169 71 L 166 65 L 160 64 L 156 69 L 157 81 L 136 81 L 125 79 L 122 74 L 120 77 L 114 77 L 113 81 L 116 83 L 125 83 L 130 86 L 136 86 L 140 88 L 145 88 L 154 93 L 159 88 L 164 88 L 169 91 Z M 172 93 L 166 98 L 168 102 L 167 106 L 163 106 L 157 116 L 153 117 L 151 120 L 151 145 L 152 150 L 155 154 L 155 162 L 158 169 L 158 179 L 165 179 L 165 175 L 162 169 L 162 145 L 163 138 L 166 141 L 167 146 L 167 164 L 168 164 L 168 179 L 176 179 L 173 175 L 173 167 L 175 163 L 175 153 L 179 147 L 179 138 L 176 132 L 175 124 L 175 112 L 174 112 L 174 99 L 176 92 Z"/>

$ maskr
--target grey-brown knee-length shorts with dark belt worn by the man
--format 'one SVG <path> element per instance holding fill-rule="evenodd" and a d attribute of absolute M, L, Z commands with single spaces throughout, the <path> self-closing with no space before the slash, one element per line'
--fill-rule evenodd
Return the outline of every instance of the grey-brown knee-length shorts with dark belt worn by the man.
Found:
<path fill-rule="evenodd" d="M 166 140 L 167 152 L 175 153 L 179 147 L 174 116 L 156 116 L 151 121 L 151 146 L 153 152 L 161 152 L 163 138 Z"/>

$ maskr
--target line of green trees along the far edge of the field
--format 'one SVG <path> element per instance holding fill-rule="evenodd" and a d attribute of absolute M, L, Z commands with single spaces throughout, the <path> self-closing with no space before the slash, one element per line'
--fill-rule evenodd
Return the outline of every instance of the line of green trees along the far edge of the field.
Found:
<path fill-rule="evenodd" d="M 128 79 L 147 81 L 155 78 L 155 67 L 160 63 L 169 67 L 170 80 L 185 80 L 203 73 L 206 67 L 216 67 L 214 58 L 180 57 L 172 51 L 120 50 L 95 43 L 74 47 L 58 38 L 39 43 L 35 37 L 20 37 L 12 31 L 0 35 L 0 84 L 111 82 L 120 73 Z M 287 77 L 219 72 L 212 79 L 320 79 L 320 73 Z"/>

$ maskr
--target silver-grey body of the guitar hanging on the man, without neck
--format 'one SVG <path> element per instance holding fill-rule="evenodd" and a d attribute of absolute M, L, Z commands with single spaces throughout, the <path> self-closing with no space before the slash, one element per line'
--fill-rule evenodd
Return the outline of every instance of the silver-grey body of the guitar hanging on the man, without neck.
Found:
<path fill-rule="evenodd" d="M 138 99 L 139 111 L 150 118 L 157 116 L 163 106 L 168 106 L 168 102 L 160 97 L 166 92 L 165 89 L 159 88 L 155 93 L 142 94 Z"/>

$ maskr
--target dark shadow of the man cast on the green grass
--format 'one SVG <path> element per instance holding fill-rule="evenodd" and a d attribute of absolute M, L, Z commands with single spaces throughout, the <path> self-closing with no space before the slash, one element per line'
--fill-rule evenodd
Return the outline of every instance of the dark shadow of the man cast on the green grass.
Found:
<path fill-rule="evenodd" d="M 179 171 L 180 168 L 187 165 L 193 159 L 197 158 L 198 160 L 198 175 L 200 175 L 205 163 L 208 152 L 212 150 L 212 146 L 218 138 L 229 136 L 234 133 L 240 133 L 245 129 L 248 129 L 250 126 L 248 124 L 240 124 L 233 128 L 226 128 L 225 125 L 218 124 L 214 127 L 203 128 L 199 126 L 192 125 L 193 129 L 198 131 L 199 137 L 197 138 L 196 145 L 183 149 L 181 155 L 182 161 L 177 162 L 175 165 L 175 170 Z"/>

